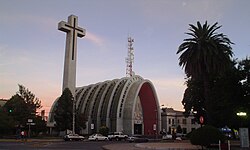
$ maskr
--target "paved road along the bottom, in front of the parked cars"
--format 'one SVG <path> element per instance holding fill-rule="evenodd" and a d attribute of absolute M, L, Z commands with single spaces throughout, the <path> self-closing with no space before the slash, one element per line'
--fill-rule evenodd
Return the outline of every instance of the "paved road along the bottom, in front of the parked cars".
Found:
<path fill-rule="evenodd" d="M 145 149 L 198 149 L 190 143 L 181 142 L 149 142 L 149 143 L 128 143 L 126 141 L 69 141 L 63 140 L 29 140 L 23 141 L 0 141 L 0 150 L 145 150 Z M 239 142 L 232 142 L 232 150 L 249 150 L 249 148 L 240 148 Z"/>

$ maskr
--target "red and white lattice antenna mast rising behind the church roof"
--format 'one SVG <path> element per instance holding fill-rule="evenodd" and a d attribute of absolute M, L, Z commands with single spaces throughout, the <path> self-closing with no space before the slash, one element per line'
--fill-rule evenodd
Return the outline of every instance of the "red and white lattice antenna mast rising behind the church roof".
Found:
<path fill-rule="evenodd" d="M 134 63 L 134 48 L 133 48 L 134 39 L 128 37 L 128 56 L 126 58 L 127 68 L 126 76 L 132 77 L 135 73 L 133 72 L 133 63 Z"/>

